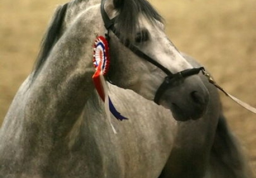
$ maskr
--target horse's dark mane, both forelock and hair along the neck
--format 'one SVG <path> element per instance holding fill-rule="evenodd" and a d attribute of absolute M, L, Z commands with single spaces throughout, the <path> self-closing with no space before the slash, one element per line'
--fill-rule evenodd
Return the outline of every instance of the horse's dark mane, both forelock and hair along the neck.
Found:
<path fill-rule="evenodd" d="M 114 1 L 114 3 L 116 3 L 115 7 L 119 12 L 119 16 L 116 18 L 116 29 L 120 32 L 121 39 L 129 39 L 129 37 L 136 35 L 136 29 L 139 26 L 138 17 L 140 14 L 143 14 L 152 24 L 155 24 L 156 21 L 163 22 L 163 18 L 160 14 L 146 0 L 122 0 L 121 2 L 122 3 L 118 3 L 118 1 Z M 67 6 L 68 3 L 58 6 L 53 15 L 50 27 L 47 29 L 41 42 L 41 49 L 33 68 L 32 82 L 47 60 L 53 46 L 62 35 L 61 29 L 66 16 Z"/>

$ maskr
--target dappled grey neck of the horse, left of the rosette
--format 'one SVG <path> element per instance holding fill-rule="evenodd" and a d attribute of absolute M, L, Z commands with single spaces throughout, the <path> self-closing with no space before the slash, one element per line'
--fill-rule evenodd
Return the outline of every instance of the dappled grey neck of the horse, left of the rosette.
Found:
<path fill-rule="evenodd" d="M 97 35 L 104 34 L 104 27 L 91 23 L 99 22 L 99 11 L 95 7 L 82 13 L 66 28 L 29 88 L 20 88 L 8 111 L 6 128 L 21 127 L 11 122 L 16 118 L 24 121 L 28 136 L 56 138 L 70 132 L 95 90 L 92 45 Z"/>

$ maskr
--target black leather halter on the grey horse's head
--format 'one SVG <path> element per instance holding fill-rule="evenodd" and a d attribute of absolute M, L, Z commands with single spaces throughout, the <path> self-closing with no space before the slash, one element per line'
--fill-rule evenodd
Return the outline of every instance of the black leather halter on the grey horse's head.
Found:
<path fill-rule="evenodd" d="M 105 28 L 108 31 L 108 33 L 106 34 L 106 38 L 108 41 L 110 40 L 109 31 L 111 30 L 116 35 L 116 37 L 120 39 L 120 33 L 117 32 L 117 30 L 114 26 L 116 17 L 112 18 L 112 19 L 109 18 L 109 16 L 107 15 L 107 13 L 104 9 L 105 1 L 106 0 L 101 0 L 101 16 L 104 21 Z M 152 65 L 155 65 L 156 67 L 160 68 L 160 70 L 163 71 L 167 75 L 165 77 L 165 80 L 163 81 L 163 83 L 160 85 L 160 87 L 156 91 L 154 102 L 157 103 L 157 105 L 159 105 L 160 98 L 163 95 L 164 91 L 168 87 L 170 87 L 174 81 L 181 80 L 182 78 L 196 75 L 200 71 L 204 71 L 204 67 L 198 67 L 198 68 L 191 68 L 188 70 L 184 70 L 184 71 L 181 71 L 178 73 L 172 73 L 171 71 L 168 70 L 168 68 L 162 66 L 159 62 L 157 62 L 154 59 L 152 59 L 151 57 L 147 56 L 144 52 L 140 51 L 139 48 L 137 48 L 136 46 L 134 46 L 132 44 L 126 44 L 124 42 L 122 42 L 122 44 L 124 46 L 126 46 L 127 48 L 129 48 L 132 52 L 134 52 L 135 55 L 137 55 L 141 58 L 144 58 L 144 60 L 146 60 L 146 61 L 152 63 Z"/>

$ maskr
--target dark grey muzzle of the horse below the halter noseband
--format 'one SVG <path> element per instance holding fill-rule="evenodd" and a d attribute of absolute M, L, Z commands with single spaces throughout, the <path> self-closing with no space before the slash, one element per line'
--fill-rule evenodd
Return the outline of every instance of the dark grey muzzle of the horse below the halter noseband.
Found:
<path fill-rule="evenodd" d="M 177 121 L 196 120 L 206 111 L 209 92 L 198 75 L 166 77 L 155 102 L 169 108 Z"/>

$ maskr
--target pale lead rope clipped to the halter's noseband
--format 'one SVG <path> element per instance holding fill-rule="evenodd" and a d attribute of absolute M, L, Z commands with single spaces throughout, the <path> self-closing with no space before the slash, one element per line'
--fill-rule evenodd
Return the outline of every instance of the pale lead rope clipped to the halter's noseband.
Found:
<path fill-rule="evenodd" d="M 231 98 L 234 102 L 238 103 L 238 105 L 244 107 L 245 109 L 247 109 L 250 112 L 256 113 L 256 108 L 248 105 L 248 103 L 245 103 L 241 100 L 239 100 L 237 97 L 234 97 L 233 95 L 230 95 L 227 91 L 225 91 L 221 86 L 218 85 L 218 83 L 216 83 L 213 78 L 209 75 L 209 73 L 207 73 L 204 69 L 202 70 L 203 75 L 205 75 L 208 78 L 208 81 L 213 84 L 216 88 L 218 88 L 220 91 L 222 91 L 226 96 L 228 96 L 229 98 Z"/>

